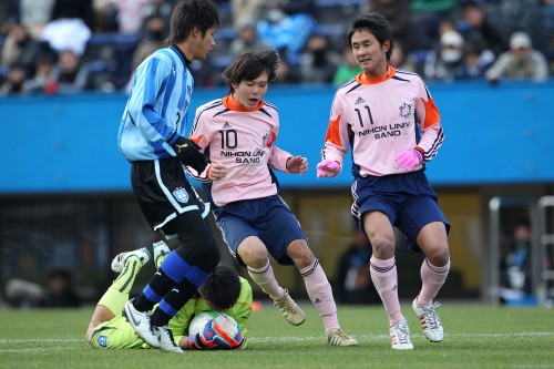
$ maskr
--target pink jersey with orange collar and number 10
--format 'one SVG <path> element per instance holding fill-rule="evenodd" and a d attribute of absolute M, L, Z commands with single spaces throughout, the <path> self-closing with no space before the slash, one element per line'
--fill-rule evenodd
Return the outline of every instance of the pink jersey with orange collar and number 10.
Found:
<path fill-rule="evenodd" d="M 268 166 L 288 173 L 286 163 L 291 156 L 274 146 L 278 133 L 277 107 L 264 101 L 248 111 L 228 95 L 196 110 L 189 139 L 212 163 L 227 167 L 227 176 L 212 183 L 217 206 L 277 194 Z M 196 180 L 206 181 L 207 174 Z"/>

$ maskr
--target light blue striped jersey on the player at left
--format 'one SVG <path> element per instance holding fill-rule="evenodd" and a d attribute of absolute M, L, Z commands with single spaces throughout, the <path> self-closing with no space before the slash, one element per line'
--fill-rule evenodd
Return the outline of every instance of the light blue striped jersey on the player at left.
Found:
<path fill-rule="evenodd" d="M 127 161 L 176 156 L 171 145 L 187 129 L 194 79 L 176 47 L 155 51 L 136 69 L 117 145 Z"/>

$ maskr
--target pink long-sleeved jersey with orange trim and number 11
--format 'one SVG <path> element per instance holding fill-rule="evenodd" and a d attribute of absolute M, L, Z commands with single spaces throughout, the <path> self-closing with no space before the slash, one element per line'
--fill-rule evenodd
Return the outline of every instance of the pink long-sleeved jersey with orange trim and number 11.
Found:
<path fill-rule="evenodd" d="M 322 158 L 342 164 L 351 145 L 360 176 L 399 174 L 408 170 L 394 161 L 398 153 L 416 148 L 428 162 L 443 140 L 439 111 L 421 78 L 389 66 L 382 76 L 360 73 L 337 91 Z"/>

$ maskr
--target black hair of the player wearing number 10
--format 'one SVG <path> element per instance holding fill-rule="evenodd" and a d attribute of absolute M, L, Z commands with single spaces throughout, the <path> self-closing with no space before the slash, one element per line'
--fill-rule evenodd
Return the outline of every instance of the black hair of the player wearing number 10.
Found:
<path fill-rule="evenodd" d="M 275 81 L 279 63 L 279 53 L 273 49 L 244 52 L 223 71 L 222 76 L 233 92 L 233 83 L 254 81 L 264 72 L 267 72 L 268 82 Z"/>

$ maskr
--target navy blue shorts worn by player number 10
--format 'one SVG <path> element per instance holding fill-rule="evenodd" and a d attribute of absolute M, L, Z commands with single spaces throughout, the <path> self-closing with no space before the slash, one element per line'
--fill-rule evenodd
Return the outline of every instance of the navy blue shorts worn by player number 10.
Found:
<path fill-rule="evenodd" d="M 237 247 L 246 237 L 261 239 L 280 265 L 294 265 L 286 254 L 293 240 L 308 242 L 297 218 L 278 195 L 234 202 L 214 209 L 214 215 L 230 254 L 242 266 L 246 265 L 237 254 Z"/>

